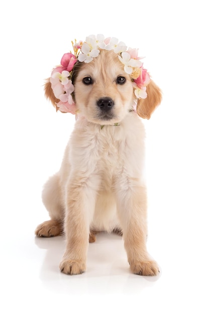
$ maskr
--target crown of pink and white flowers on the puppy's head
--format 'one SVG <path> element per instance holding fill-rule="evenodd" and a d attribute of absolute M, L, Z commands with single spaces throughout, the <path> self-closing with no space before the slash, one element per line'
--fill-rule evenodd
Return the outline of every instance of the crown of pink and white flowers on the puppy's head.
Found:
<path fill-rule="evenodd" d="M 146 86 L 150 82 L 150 76 L 143 63 L 138 57 L 138 49 L 128 48 L 123 42 L 119 42 L 117 38 L 106 38 L 104 35 L 90 35 L 85 41 L 72 42 L 74 54 L 65 53 L 61 59 L 61 65 L 56 67 L 50 77 L 53 93 L 60 101 L 56 103 L 57 110 L 61 112 L 71 112 L 76 114 L 76 104 L 73 101 L 72 93 L 74 86 L 71 78 L 73 68 L 76 62 L 89 63 L 99 55 L 99 49 L 113 50 L 118 54 L 119 60 L 124 64 L 124 70 L 130 75 L 134 93 L 137 99 L 146 98 Z"/>

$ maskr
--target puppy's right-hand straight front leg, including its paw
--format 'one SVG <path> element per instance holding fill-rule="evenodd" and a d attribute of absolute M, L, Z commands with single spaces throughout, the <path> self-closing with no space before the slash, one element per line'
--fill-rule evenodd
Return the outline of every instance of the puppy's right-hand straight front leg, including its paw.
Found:
<path fill-rule="evenodd" d="M 131 271 L 144 276 L 156 275 L 158 265 L 151 260 L 147 248 L 147 198 L 143 186 L 134 186 L 127 180 L 128 188 L 117 193 L 119 217 L 123 227 L 124 245 Z M 123 185 L 124 186 L 124 185 Z"/>

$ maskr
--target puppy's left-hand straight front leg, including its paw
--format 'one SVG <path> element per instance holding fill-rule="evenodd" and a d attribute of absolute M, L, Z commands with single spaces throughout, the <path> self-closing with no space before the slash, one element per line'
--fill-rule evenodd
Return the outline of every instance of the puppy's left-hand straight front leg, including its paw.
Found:
<path fill-rule="evenodd" d="M 66 249 L 60 270 L 69 275 L 86 269 L 89 226 L 93 217 L 96 192 L 90 178 L 73 176 L 67 187 L 67 212 L 64 221 Z"/>

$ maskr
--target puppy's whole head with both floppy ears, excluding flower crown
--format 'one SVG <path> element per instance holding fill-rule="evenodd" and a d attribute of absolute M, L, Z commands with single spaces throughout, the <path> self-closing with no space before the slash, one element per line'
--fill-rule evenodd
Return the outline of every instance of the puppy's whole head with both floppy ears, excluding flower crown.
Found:
<path fill-rule="evenodd" d="M 135 107 L 132 78 L 124 70 L 118 55 L 113 50 L 99 49 L 98 56 L 91 62 L 77 61 L 73 67 L 73 110 L 88 121 L 100 125 L 118 123 Z M 137 113 L 149 119 L 161 102 L 161 91 L 150 80 L 146 92 L 147 97 L 137 101 Z M 57 108 L 59 99 L 54 95 L 49 79 L 45 84 L 45 95 Z"/>

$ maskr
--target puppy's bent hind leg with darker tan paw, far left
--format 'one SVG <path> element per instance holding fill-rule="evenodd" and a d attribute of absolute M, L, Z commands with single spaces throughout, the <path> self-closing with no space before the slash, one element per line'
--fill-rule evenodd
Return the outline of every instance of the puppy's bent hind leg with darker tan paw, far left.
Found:
<path fill-rule="evenodd" d="M 35 234 L 38 237 L 54 237 L 63 232 L 64 211 L 61 205 L 61 191 L 58 174 L 49 178 L 42 192 L 42 201 L 51 220 L 40 224 Z"/>

